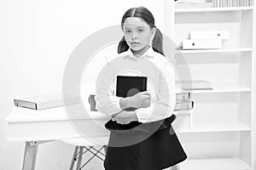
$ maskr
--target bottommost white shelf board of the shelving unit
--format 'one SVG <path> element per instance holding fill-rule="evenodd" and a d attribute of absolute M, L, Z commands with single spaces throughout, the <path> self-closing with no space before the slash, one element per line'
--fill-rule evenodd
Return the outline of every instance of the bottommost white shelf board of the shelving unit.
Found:
<path fill-rule="evenodd" d="M 217 170 L 217 169 L 232 169 L 232 170 L 249 170 L 247 165 L 240 158 L 230 159 L 198 159 L 187 160 L 180 163 L 180 169 L 183 170 Z"/>

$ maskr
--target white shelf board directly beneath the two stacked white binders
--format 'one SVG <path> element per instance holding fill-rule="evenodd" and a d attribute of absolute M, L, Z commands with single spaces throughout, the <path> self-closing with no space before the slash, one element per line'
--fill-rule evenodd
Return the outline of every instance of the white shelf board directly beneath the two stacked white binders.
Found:
<path fill-rule="evenodd" d="M 195 49 L 195 50 L 176 50 L 175 54 L 206 54 L 206 53 L 233 53 L 233 52 L 252 52 L 252 48 L 230 48 L 230 49 Z"/>

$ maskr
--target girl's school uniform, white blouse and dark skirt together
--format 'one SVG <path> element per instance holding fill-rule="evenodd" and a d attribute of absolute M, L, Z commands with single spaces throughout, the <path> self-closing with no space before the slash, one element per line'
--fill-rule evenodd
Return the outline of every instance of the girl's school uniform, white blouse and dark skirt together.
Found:
<path fill-rule="evenodd" d="M 96 81 L 96 109 L 102 114 L 122 111 L 115 95 L 116 76 L 148 77 L 151 105 L 135 111 L 138 121 L 121 125 L 110 120 L 111 131 L 104 161 L 106 170 L 160 170 L 184 161 L 187 156 L 172 129 L 176 103 L 175 74 L 172 62 L 148 50 L 139 58 L 131 49 L 108 59 Z"/>

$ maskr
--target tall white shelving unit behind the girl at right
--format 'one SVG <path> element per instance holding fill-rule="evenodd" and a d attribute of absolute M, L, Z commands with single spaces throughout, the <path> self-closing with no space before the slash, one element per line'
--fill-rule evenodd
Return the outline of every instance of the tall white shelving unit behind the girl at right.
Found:
<path fill-rule="evenodd" d="M 177 71 L 189 68 L 192 80 L 207 80 L 213 88 L 190 91 L 195 107 L 189 127 L 177 133 L 189 156 L 181 169 L 253 170 L 255 7 L 175 8 L 173 1 L 165 3 L 165 33 L 177 47 L 189 31 L 230 31 L 221 49 L 172 47 Z"/>

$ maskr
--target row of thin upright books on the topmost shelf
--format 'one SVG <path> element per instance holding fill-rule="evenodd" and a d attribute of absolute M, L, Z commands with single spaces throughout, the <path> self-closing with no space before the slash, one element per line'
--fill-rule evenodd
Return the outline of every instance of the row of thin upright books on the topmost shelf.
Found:
<path fill-rule="evenodd" d="M 212 0 L 213 8 L 250 7 L 250 6 L 253 6 L 252 0 Z"/>

